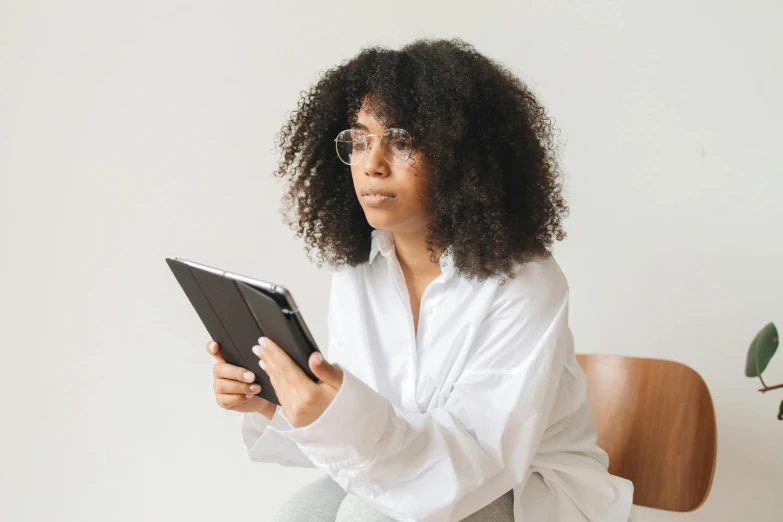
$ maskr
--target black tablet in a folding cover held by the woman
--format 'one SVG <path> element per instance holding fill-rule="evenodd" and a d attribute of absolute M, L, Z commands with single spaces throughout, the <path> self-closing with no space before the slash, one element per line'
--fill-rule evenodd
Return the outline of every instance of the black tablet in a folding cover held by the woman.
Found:
<path fill-rule="evenodd" d="M 252 351 L 261 336 L 279 345 L 318 382 L 308 364 L 318 346 L 285 287 L 186 259 L 166 258 L 166 263 L 226 362 L 255 374 L 259 397 L 280 404 Z"/>

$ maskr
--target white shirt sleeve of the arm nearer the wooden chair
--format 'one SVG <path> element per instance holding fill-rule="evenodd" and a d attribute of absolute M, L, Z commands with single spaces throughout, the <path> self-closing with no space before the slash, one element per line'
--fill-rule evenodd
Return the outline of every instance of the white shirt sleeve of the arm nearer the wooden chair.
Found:
<path fill-rule="evenodd" d="M 491 503 L 525 480 L 572 350 L 565 280 L 521 288 L 499 287 L 442 407 L 401 411 L 345 372 L 316 421 L 280 436 L 394 520 L 461 520 Z"/>

